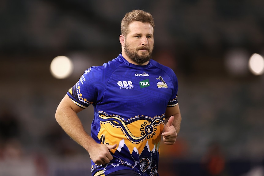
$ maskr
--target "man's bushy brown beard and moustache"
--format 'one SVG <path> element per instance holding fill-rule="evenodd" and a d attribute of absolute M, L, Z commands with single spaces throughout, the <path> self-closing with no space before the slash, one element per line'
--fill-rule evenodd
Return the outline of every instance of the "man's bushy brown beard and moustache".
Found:
<path fill-rule="evenodd" d="M 147 50 L 148 52 L 142 52 L 142 54 L 138 54 L 138 51 L 139 50 Z M 148 62 L 150 61 L 151 59 L 151 55 L 152 55 L 152 51 L 153 51 L 153 48 L 149 48 L 149 47 L 146 47 L 146 46 L 142 46 L 142 47 L 138 47 L 136 48 L 135 51 L 132 50 L 132 48 L 130 48 L 129 45 L 125 45 L 124 47 L 124 51 L 126 53 L 126 55 L 132 60 L 134 61 L 135 63 L 137 63 L 138 65 L 141 65 L 145 62 Z"/>

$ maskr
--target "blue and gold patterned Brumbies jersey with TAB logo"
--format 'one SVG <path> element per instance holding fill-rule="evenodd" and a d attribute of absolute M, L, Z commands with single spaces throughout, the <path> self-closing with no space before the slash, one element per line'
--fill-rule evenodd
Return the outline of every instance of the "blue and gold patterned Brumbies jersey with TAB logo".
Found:
<path fill-rule="evenodd" d="M 117 144 L 106 165 L 92 162 L 92 175 L 131 169 L 155 176 L 167 107 L 176 106 L 178 81 L 172 69 L 150 60 L 129 63 L 122 54 L 103 66 L 93 66 L 68 92 L 82 108 L 94 107 L 91 136 L 97 143 Z"/>

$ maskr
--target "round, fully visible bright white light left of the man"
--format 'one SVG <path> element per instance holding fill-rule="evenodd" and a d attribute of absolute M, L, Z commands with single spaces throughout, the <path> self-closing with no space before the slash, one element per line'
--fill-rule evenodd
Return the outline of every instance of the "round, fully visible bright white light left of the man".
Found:
<path fill-rule="evenodd" d="M 66 56 L 58 56 L 51 62 L 50 71 L 57 79 L 65 79 L 73 72 L 73 63 Z"/>

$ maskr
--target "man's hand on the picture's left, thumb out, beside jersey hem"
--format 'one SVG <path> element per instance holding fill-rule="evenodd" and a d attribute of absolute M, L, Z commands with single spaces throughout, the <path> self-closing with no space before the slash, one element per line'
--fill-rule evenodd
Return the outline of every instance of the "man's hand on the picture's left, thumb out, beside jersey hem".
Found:
<path fill-rule="evenodd" d="M 108 145 L 108 144 L 97 144 L 93 146 L 89 150 L 90 158 L 94 163 L 97 165 L 107 164 L 113 159 L 113 156 L 110 153 L 111 149 L 116 148 L 117 144 L 115 145 Z"/>

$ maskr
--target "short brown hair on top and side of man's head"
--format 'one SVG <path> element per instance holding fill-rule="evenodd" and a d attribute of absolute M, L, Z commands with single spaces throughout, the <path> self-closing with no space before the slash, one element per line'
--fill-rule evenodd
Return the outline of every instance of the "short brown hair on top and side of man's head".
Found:
<path fill-rule="evenodd" d="M 128 34 L 128 26 L 133 21 L 140 21 L 142 23 L 149 23 L 154 29 L 154 20 L 149 12 L 143 10 L 132 10 L 125 14 L 121 21 L 121 34 L 126 36 Z"/>

